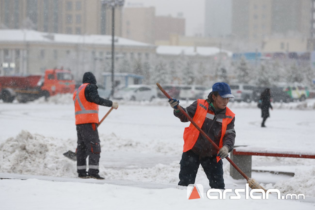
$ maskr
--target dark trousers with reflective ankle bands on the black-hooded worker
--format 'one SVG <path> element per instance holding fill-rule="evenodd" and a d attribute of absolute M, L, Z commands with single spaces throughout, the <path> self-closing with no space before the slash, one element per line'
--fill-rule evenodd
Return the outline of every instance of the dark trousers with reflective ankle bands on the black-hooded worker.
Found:
<path fill-rule="evenodd" d="M 77 125 L 77 173 L 86 173 L 86 158 L 89 156 L 89 175 L 99 173 L 100 138 L 96 123 Z"/>

